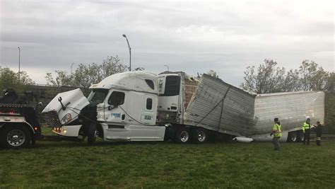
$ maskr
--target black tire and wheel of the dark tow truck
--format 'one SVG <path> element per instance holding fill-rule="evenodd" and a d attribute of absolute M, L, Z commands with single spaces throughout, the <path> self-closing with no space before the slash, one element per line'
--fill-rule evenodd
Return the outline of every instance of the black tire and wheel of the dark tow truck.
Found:
<path fill-rule="evenodd" d="M 2 130 L 0 136 L 0 144 L 8 149 L 29 147 L 30 141 L 30 130 L 22 125 L 8 125 Z"/>

